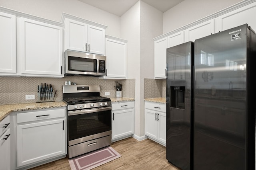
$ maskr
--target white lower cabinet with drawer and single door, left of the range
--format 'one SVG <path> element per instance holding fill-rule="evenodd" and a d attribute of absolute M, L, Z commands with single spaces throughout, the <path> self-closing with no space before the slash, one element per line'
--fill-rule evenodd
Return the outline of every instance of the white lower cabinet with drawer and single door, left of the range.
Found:
<path fill-rule="evenodd" d="M 66 155 L 66 107 L 17 113 L 17 168 Z"/>

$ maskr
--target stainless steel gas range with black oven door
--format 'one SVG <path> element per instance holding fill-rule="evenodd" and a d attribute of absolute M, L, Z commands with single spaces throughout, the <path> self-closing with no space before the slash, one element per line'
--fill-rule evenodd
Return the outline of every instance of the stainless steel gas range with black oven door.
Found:
<path fill-rule="evenodd" d="M 111 144 L 111 100 L 99 85 L 64 85 L 68 105 L 68 158 Z"/>

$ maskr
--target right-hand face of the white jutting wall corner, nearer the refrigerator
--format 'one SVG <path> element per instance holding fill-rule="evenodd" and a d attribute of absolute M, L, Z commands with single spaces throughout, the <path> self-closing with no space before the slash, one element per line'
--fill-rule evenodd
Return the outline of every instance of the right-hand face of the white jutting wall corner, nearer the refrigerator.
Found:
<path fill-rule="evenodd" d="M 145 135 L 144 78 L 154 79 L 154 41 L 162 33 L 163 13 L 140 1 L 140 136 Z"/>

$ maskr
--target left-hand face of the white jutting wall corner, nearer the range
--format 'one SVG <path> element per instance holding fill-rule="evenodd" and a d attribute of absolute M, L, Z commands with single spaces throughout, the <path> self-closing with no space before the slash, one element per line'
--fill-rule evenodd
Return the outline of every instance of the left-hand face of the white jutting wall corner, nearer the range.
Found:
<path fill-rule="evenodd" d="M 121 16 L 121 35 L 128 40 L 127 78 L 135 78 L 135 135 L 140 136 L 140 1 Z"/>

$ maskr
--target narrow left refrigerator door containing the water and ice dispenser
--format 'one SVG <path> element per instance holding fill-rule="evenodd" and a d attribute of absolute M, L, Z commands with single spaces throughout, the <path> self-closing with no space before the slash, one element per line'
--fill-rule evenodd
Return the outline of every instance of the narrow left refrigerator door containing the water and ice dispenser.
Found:
<path fill-rule="evenodd" d="M 192 48 L 170 47 L 166 58 L 166 159 L 182 170 L 190 170 Z"/>

